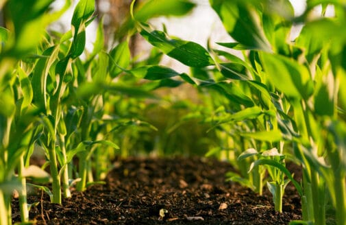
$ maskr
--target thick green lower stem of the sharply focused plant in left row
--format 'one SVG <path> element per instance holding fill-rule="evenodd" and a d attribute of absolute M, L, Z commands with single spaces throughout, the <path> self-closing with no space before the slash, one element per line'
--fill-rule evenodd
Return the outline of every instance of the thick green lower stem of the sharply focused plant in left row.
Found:
<path fill-rule="evenodd" d="M 56 159 L 56 152 L 54 146 L 55 140 L 51 140 L 51 145 L 48 147 L 49 165 L 51 168 L 52 188 L 53 188 L 53 201 L 52 203 L 61 204 L 61 185 L 60 176 L 58 172 L 58 161 Z"/>

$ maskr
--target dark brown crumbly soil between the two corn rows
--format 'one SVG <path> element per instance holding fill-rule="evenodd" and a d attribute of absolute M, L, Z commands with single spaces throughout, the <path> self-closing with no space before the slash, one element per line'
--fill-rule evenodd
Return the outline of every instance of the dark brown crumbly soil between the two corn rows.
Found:
<path fill-rule="evenodd" d="M 37 224 L 288 224 L 301 220 L 292 185 L 284 193 L 283 213 L 271 194 L 262 196 L 226 182 L 229 163 L 206 158 L 128 158 L 114 163 L 105 185 L 73 191 L 62 204 L 45 193 L 28 196 L 29 217 Z M 13 222 L 20 220 L 18 200 Z M 160 216 L 161 213 L 161 216 Z"/>

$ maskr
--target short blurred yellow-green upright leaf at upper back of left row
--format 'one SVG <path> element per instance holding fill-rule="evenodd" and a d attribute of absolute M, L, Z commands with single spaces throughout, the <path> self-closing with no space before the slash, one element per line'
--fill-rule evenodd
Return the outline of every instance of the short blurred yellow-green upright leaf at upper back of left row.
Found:
<path fill-rule="evenodd" d="M 110 76 L 115 78 L 123 70 L 129 66 L 131 54 L 129 51 L 129 43 L 124 41 L 119 45 L 116 45 L 114 49 L 110 51 Z"/>

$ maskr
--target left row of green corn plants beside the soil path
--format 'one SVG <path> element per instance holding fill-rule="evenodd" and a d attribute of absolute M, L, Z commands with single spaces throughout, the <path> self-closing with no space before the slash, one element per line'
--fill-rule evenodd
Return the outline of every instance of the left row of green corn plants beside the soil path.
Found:
<path fill-rule="evenodd" d="M 62 198 L 71 197 L 72 185 L 84 191 L 100 182 L 115 150 L 127 156 L 131 138 L 140 139 L 156 129 L 140 116 L 145 100 L 158 102 L 153 91 L 179 86 L 183 82 L 173 77 L 185 75 L 158 65 L 162 56 L 158 51 L 133 60 L 129 39 L 137 29 L 132 19 L 110 47 L 104 43 L 102 20 L 98 21 L 93 49 L 86 51 L 86 27 L 97 18 L 95 1 L 77 2 L 71 29 L 64 34 L 47 27 L 73 4 L 66 0 L 62 8 L 52 10 L 51 3 L 0 3 L 5 21 L 0 27 L 1 225 L 12 224 L 14 191 L 26 223 L 27 187 L 42 189 L 51 202 L 60 204 Z M 188 1 L 143 1 L 135 12 L 138 21 L 145 22 L 153 16 L 184 15 L 194 6 Z M 42 167 L 30 165 L 38 150 L 45 152 Z"/>

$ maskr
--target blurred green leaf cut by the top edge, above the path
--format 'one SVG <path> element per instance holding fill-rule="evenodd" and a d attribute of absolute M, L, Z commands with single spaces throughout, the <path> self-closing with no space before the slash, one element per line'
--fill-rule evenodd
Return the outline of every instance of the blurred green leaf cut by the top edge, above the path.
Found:
<path fill-rule="evenodd" d="M 138 21 L 145 22 L 156 16 L 182 16 L 194 7 L 195 3 L 185 0 L 149 0 L 136 9 L 134 17 Z"/>

